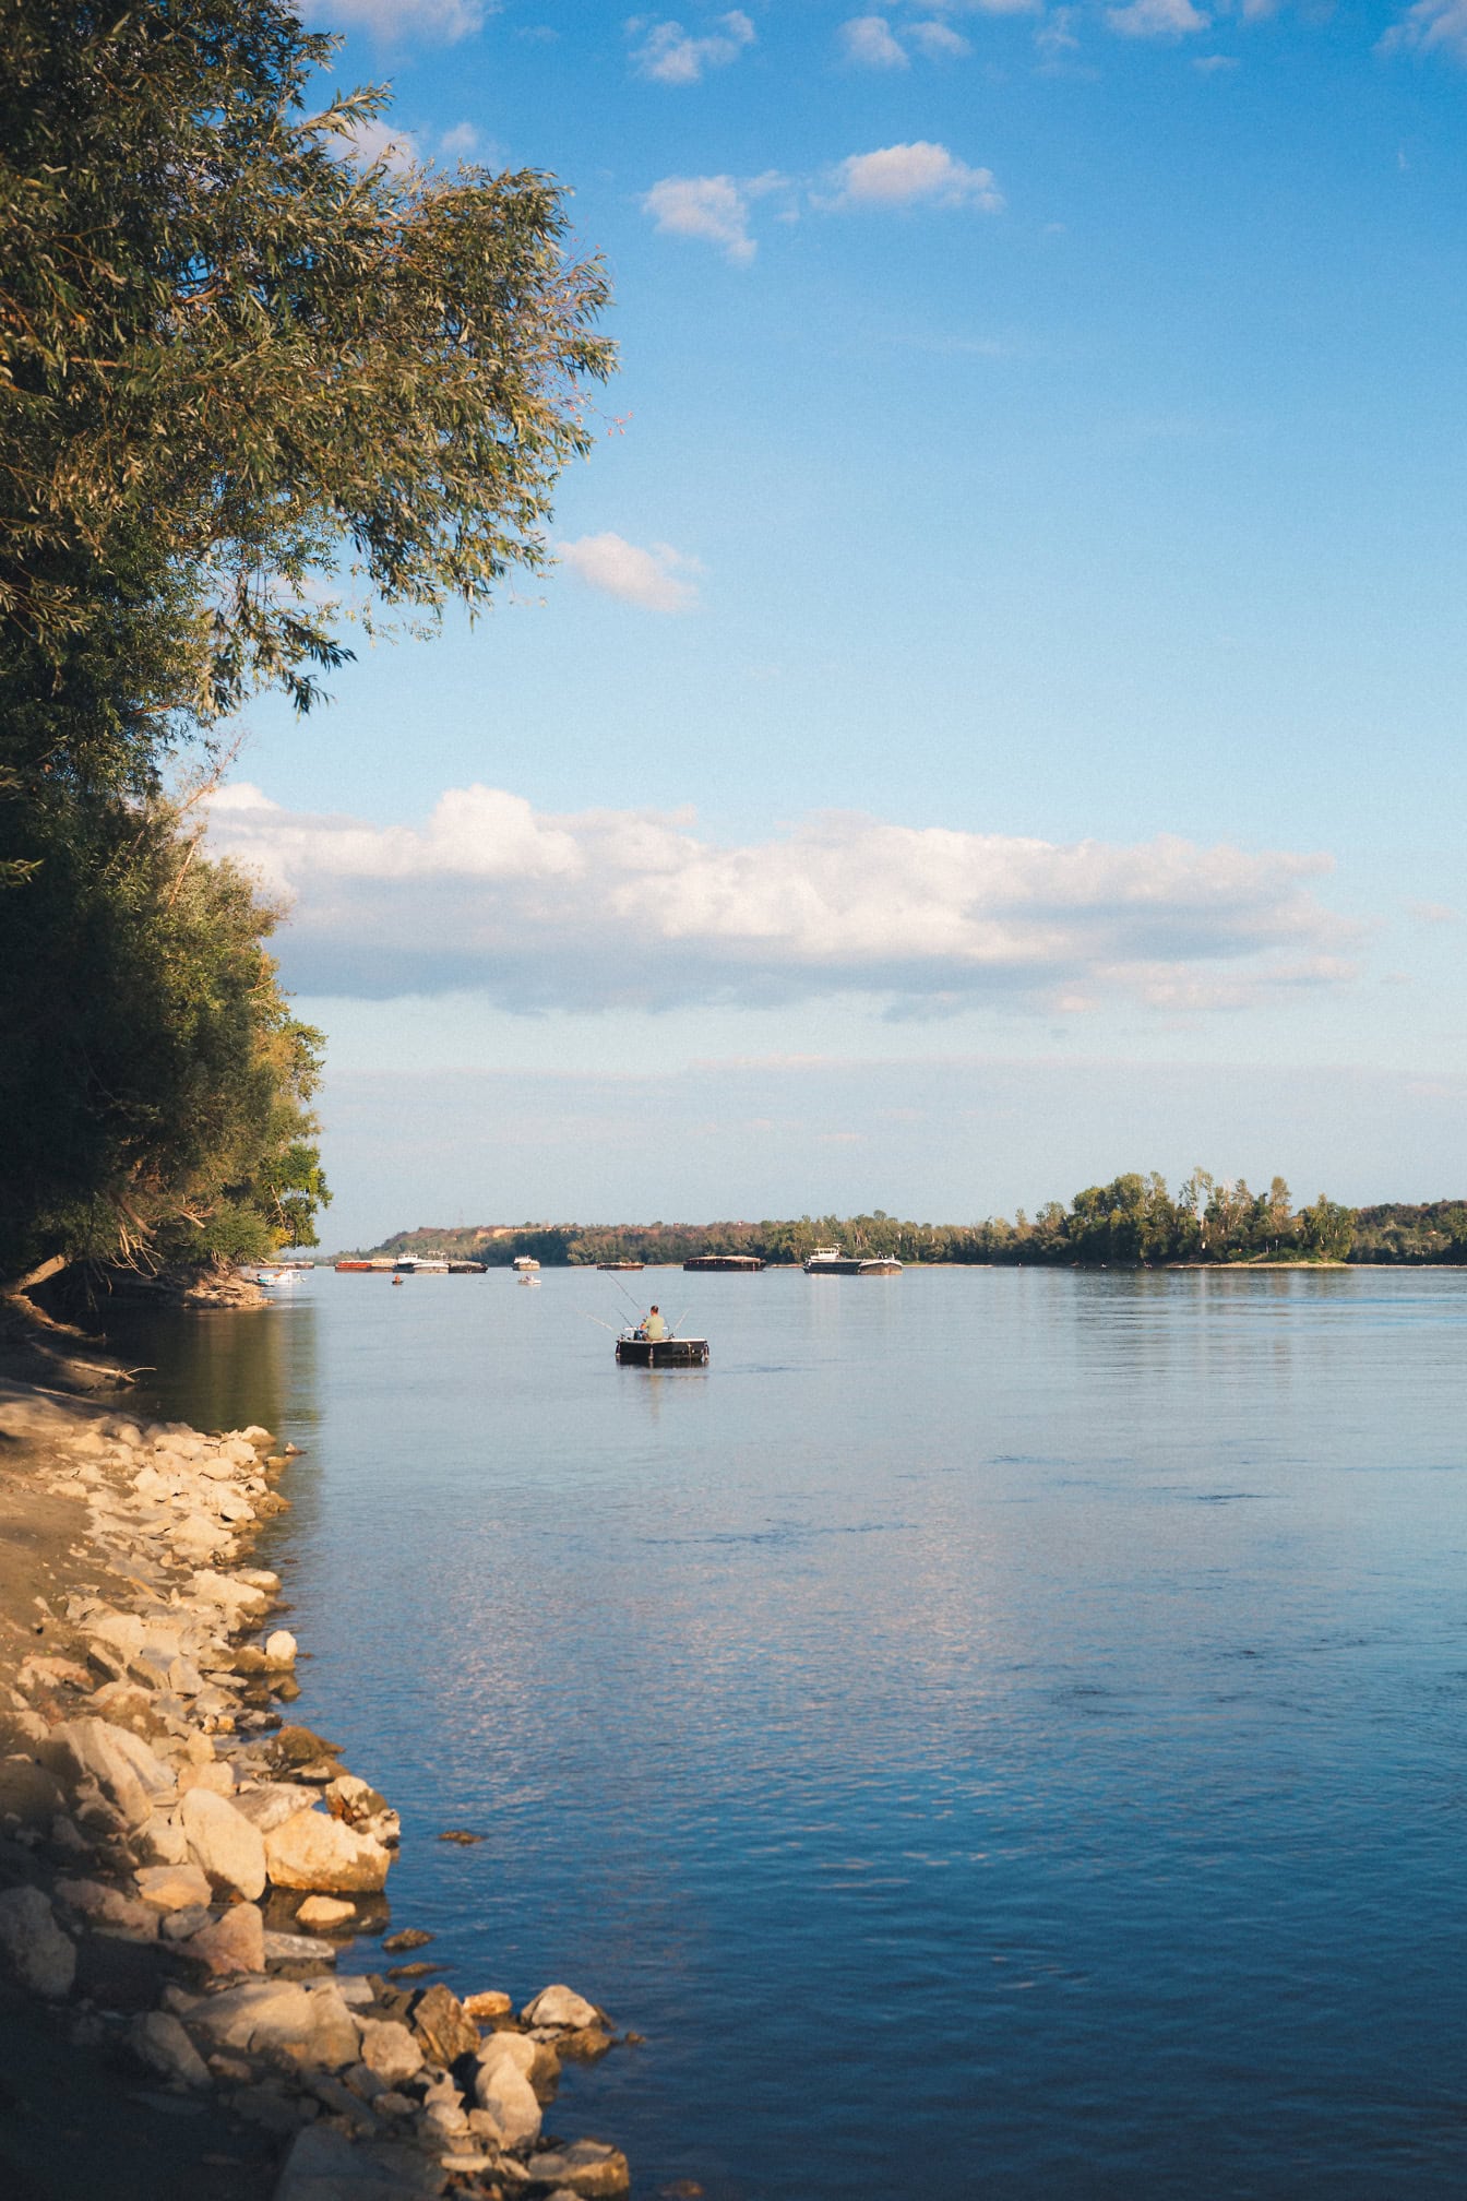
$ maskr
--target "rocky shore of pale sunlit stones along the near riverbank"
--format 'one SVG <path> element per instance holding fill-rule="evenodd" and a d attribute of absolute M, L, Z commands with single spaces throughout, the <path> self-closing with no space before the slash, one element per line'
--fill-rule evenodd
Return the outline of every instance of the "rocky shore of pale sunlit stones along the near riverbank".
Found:
<path fill-rule="evenodd" d="M 596 2005 L 337 1974 L 400 1829 L 279 1710 L 297 1644 L 249 1558 L 290 1455 L 0 1384 L 0 2018 L 42 2091 L 73 2060 L 134 2150 L 143 2111 L 161 2135 L 154 2188 L 51 2177 L 42 2135 L 18 2192 L 622 2194 L 618 2148 L 543 2128 L 563 2062 L 614 2045 Z M 178 2117 L 209 2146 L 172 2188 Z"/>

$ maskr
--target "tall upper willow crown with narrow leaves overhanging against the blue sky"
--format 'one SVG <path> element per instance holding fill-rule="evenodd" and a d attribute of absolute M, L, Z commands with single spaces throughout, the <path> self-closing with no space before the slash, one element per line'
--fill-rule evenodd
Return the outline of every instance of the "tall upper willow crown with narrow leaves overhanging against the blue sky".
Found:
<path fill-rule="evenodd" d="M 169 753 L 260 685 L 308 709 L 352 616 L 431 627 L 543 566 L 611 348 L 554 178 L 369 158 L 387 95 L 317 99 L 334 40 L 284 0 L 0 0 L 0 929 L 24 929 L 68 845 L 125 861 L 119 806 L 161 876 Z M 7 1015 L 55 1030 L 24 973 Z M 0 1109 L 44 1112 L 70 1061 L 9 1050 Z M 68 1200 L 11 1202 L 0 1268 L 26 1204 L 125 1233 L 114 1147 L 70 1151 Z"/>

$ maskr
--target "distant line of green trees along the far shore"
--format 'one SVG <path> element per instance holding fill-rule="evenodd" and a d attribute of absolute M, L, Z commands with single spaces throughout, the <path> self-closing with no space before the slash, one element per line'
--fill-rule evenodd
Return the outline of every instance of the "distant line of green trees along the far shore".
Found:
<path fill-rule="evenodd" d="M 1467 1202 L 1346 1208 L 1324 1193 L 1295 1208 L 1282 1178 L 1254 1193 L 1205 1169 L 1168 1191 L 1166 1180 L 1128 1173 L 1091 1184 L 1069 1206 L 1051 1200 L 1012 1222 L 915 1224 L 871 1215 L 801 1215 L 796 1222 L 724 1224 L 521 1224 L 457 1230 L 400 1230 L 380 1255 L 424 1252 L 506 1268 L 517 1255 L 545 1266 L 596 1261 L 686 1261 L 706 1252 L 746 1252 L 761 1261 L 803 1261 L 816 1246 L 893 1252 L 902 1261 L 955 1261 L 1051 1268 L 1168 1268 L 1174 1263 L 1293 1261 L 1463 1261 Z"/>

